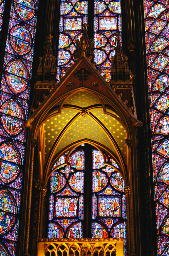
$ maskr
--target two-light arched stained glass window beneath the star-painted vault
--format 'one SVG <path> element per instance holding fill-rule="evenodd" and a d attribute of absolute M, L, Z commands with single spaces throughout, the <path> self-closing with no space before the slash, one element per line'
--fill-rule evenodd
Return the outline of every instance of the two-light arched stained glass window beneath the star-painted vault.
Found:
<path fill-rule="evenodd" d="M 123 178 L 116 171 L 119 167 L 107 154 L 107 162 L 115 169 L 105 166 L 101 152 L 93 149 L 90 155 L 85 146 L 81 145 L 70 154 L 68 165 L 63 166 L 66 159 L 63 155 L 53 166 L 48 237 L 83 237 L 84 184 L 85 179 L 89 182 L 88 174 L 92 173 L 89 193 L 92 197 L 92 209 L 89 210 L 92 212 L 92 237 L 125 238 L 126 241 L 126 199 Z M 89 167 L 90 157 L 93 164 Z"/>

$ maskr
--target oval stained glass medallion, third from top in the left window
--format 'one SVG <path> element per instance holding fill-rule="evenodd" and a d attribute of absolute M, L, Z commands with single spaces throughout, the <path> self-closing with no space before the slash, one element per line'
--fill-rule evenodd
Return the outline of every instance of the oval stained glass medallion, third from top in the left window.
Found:
<path fill-rule="evenodd" d="M 12 60 L 5 68 L 5 79 L 14 93 L 22 93 L 28 85 L 29 72 L 23 62 Z"/>

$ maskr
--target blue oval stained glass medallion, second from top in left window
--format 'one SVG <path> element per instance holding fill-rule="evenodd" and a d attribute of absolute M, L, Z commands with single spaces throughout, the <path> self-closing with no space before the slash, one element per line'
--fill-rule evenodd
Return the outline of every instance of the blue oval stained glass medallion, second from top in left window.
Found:
<path fill-rule="evenodd" d="M 13 49 L 23 55 L 30 51 L 32 47 L 32 37 L 29 30 L 22 25 L 17 25 L 11 29 L 11 44 Z"/>

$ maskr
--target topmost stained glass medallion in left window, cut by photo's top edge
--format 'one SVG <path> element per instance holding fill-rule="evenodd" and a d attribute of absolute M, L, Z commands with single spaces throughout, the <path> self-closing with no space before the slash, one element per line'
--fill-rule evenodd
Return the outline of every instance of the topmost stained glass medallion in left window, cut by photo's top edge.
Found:
<path fill-rule="evenodd" d="M 15 0 L 15 10 L 23 20 L 32 19 L 35 14 L 35 4 L 33 0 Z"/>

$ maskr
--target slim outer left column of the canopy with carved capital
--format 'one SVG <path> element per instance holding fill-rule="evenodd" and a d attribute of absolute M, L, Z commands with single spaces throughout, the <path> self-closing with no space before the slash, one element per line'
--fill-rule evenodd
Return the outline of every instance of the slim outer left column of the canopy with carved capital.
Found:
<path fill-rule="evenodd" d="M 30 234 L 30 218 L 31 218 L 31 200 L 32 200 L 32 182 L 33 182 L 33 169 L 34 169 L 34 153 L 38 141 L 31 139 L 31 166 L 30 166 L 30 182 L 29 182 L 29 198 L 28 198 L 28 211 L 27 211 L 27 229 L 26 229 L 26 245 L 24 256 L 29 256 L 29 234 Z"/>

